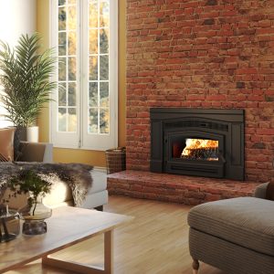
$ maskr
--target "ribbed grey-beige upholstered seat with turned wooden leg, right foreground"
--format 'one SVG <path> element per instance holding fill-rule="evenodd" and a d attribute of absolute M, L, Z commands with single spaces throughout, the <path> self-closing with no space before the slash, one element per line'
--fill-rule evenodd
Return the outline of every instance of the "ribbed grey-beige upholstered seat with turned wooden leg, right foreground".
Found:
<path fill-rule="evenodd" d="M 194 273 L 199 261 L 226 273 L 274 273 L 274 201 L 265 199 L 267 185 L 259 185 L 254 197 L 209 202 L 190 210 Z"/>

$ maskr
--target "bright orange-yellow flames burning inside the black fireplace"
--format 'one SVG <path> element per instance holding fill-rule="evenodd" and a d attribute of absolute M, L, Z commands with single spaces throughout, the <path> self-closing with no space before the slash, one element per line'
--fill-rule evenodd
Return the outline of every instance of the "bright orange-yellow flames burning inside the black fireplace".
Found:
<path fill-rule="evenodd" d="M 182 153 L 184 156 L 191 155 L 193 150 L 198 149 L 217 149 L 218 141 L 206 139 L 186 139 L 185 148 Z"/>

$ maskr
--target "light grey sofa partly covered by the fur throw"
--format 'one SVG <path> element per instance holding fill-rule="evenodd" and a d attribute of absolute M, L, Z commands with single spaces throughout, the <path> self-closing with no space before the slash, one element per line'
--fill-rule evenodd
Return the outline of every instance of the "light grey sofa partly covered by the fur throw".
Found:
<path fill-rule="evenodd" d="M 21 142 L 20 143 L 20 162 L 43 162 L 52 163 L 53 146 L 47 142 Z M 1 163 L 0 163 L 1 164 Z M 85 200 L 80 207 L 95 208 L 102 210 L 103 205 L 108 203 L 107 191 L 107 174 L 100 169 L 90 171 L 92 184 L 86 195 Z M 5 192 L 5 196 L 9 195 L 9 191 Z M 26 205 L 27 195 L 17 195 L 9 200 L 9 206 L 19 208 Z M 58 181 L 51 188 L 50 194 L 43 198 L 43 203 L 50 207 L 61 205 L 74 205 L 72 191 L 68 184 Z"/>

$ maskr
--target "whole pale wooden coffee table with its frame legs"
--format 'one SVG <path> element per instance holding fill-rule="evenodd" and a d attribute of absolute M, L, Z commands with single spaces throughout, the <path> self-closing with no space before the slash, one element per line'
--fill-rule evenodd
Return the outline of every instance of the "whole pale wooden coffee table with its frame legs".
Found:
<path fill-rule="evenodd" d="M 90 209 L 63 206 L 53 209 L 47 219 L 47 233 L 38 236 L 20 235 L 15 240 L 0 244 L 0 273 L 16 269 L 37 258 L 42 263 L 79 273 L 113 273 L 113 229 L 132 220 L 123 216 Z M 83 240 L 104 234 L 104 268 L 67 262 L 50 254 Z"/>

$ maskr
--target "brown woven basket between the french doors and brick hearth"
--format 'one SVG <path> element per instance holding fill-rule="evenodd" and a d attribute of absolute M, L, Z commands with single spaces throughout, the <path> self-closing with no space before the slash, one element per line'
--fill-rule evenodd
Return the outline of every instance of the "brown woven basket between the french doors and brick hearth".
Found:
<path fill-rule="evenodd" d="M 107 173 L 114 174 L 119 173 L 126 169 L 126 150 L 125 147 L 118 147 L 107 150 Z"/>

